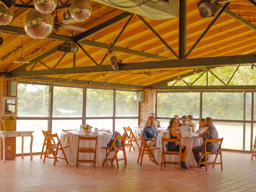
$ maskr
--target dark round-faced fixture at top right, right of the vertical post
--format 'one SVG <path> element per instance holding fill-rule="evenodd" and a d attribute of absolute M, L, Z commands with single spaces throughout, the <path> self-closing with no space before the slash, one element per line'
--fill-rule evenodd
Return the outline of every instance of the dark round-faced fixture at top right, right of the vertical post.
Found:
<path fill-rule="evenodd" d="M 213 17 L 215 13 L 222 8 L 221 4 L 218 4 L 217 0 L 200 0 L 197 3 L 198 10 L 202 18 Z"/>

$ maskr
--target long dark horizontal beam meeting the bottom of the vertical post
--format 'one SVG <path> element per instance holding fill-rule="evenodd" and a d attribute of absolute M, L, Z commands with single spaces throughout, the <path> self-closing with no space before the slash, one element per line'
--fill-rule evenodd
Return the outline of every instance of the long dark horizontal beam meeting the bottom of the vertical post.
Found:
<path fill-rule="evenodd" d="M 254 63 L 256 55 L 235 55 L 224 57 L 211 58 L 194 58 L 194 59 L 179 59 L 166 61 L 152 62 L 136 62 L 119 64 L 119 70 L 139 70 L 139 69 L 160 69 L 160 68 L 176 68 L 176 67 L 194 67 L 201 66 L 223 66 L 230 64 L 248 64 Z M 58 68 L 52 70 L 35 70 L 35 71 L 13 71 L 9 72 L 10 77 L 26 77 L 26 76 L 44 76 L 52 74 L 76 74 L 76 73 L 91 73 L 91 72 L 107 72 L 114 71 L 111 65 L 103 66 L 86 66 L 76 68 Z"/>

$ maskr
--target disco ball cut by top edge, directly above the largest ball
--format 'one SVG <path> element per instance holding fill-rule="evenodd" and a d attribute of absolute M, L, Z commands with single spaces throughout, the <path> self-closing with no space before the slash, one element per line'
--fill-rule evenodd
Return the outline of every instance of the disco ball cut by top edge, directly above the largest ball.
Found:
<path fill-rule="evenodd" d="M 34 6 L 40 13 L 51 13 L 58 5 L 58 0 L 34 0 Z"/>

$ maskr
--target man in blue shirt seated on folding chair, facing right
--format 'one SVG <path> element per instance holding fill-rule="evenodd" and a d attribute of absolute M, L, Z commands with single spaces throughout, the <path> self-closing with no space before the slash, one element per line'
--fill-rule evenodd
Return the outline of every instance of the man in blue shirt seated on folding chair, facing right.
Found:
<path fill-rule="evenodd" d="M 145 138 L 149 147 L 153 147 L 156 145 L 156 138 L 158 136 L 158 132 L 156 127 L 154 126 L 154 119 L 150 118 L 148 120 L 148 124 L 142 130 L 142 136 Z M 151 151 L 154 154 L 154 150 Z"/>

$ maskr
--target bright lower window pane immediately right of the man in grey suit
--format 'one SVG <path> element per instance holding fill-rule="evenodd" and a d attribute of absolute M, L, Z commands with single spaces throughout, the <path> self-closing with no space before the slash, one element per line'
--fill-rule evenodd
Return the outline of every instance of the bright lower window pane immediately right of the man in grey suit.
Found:
<path fill-rule="evenodd" d="M 222 148 L 243 150 L 243 123 L 213 122 L 219 138 L 223 137 Z"/>

